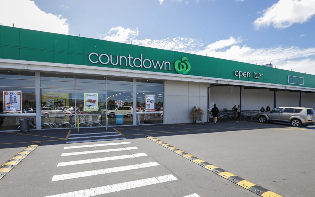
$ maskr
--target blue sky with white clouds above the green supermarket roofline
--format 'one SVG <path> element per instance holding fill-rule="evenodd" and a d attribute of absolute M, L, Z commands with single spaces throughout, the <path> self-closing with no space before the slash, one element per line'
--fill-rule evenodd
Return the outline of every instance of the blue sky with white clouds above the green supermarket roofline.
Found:
<path fill-rule="evenodd" d="M 0 25 L 315 74 L 315 0 L 0 0 Z"/>

